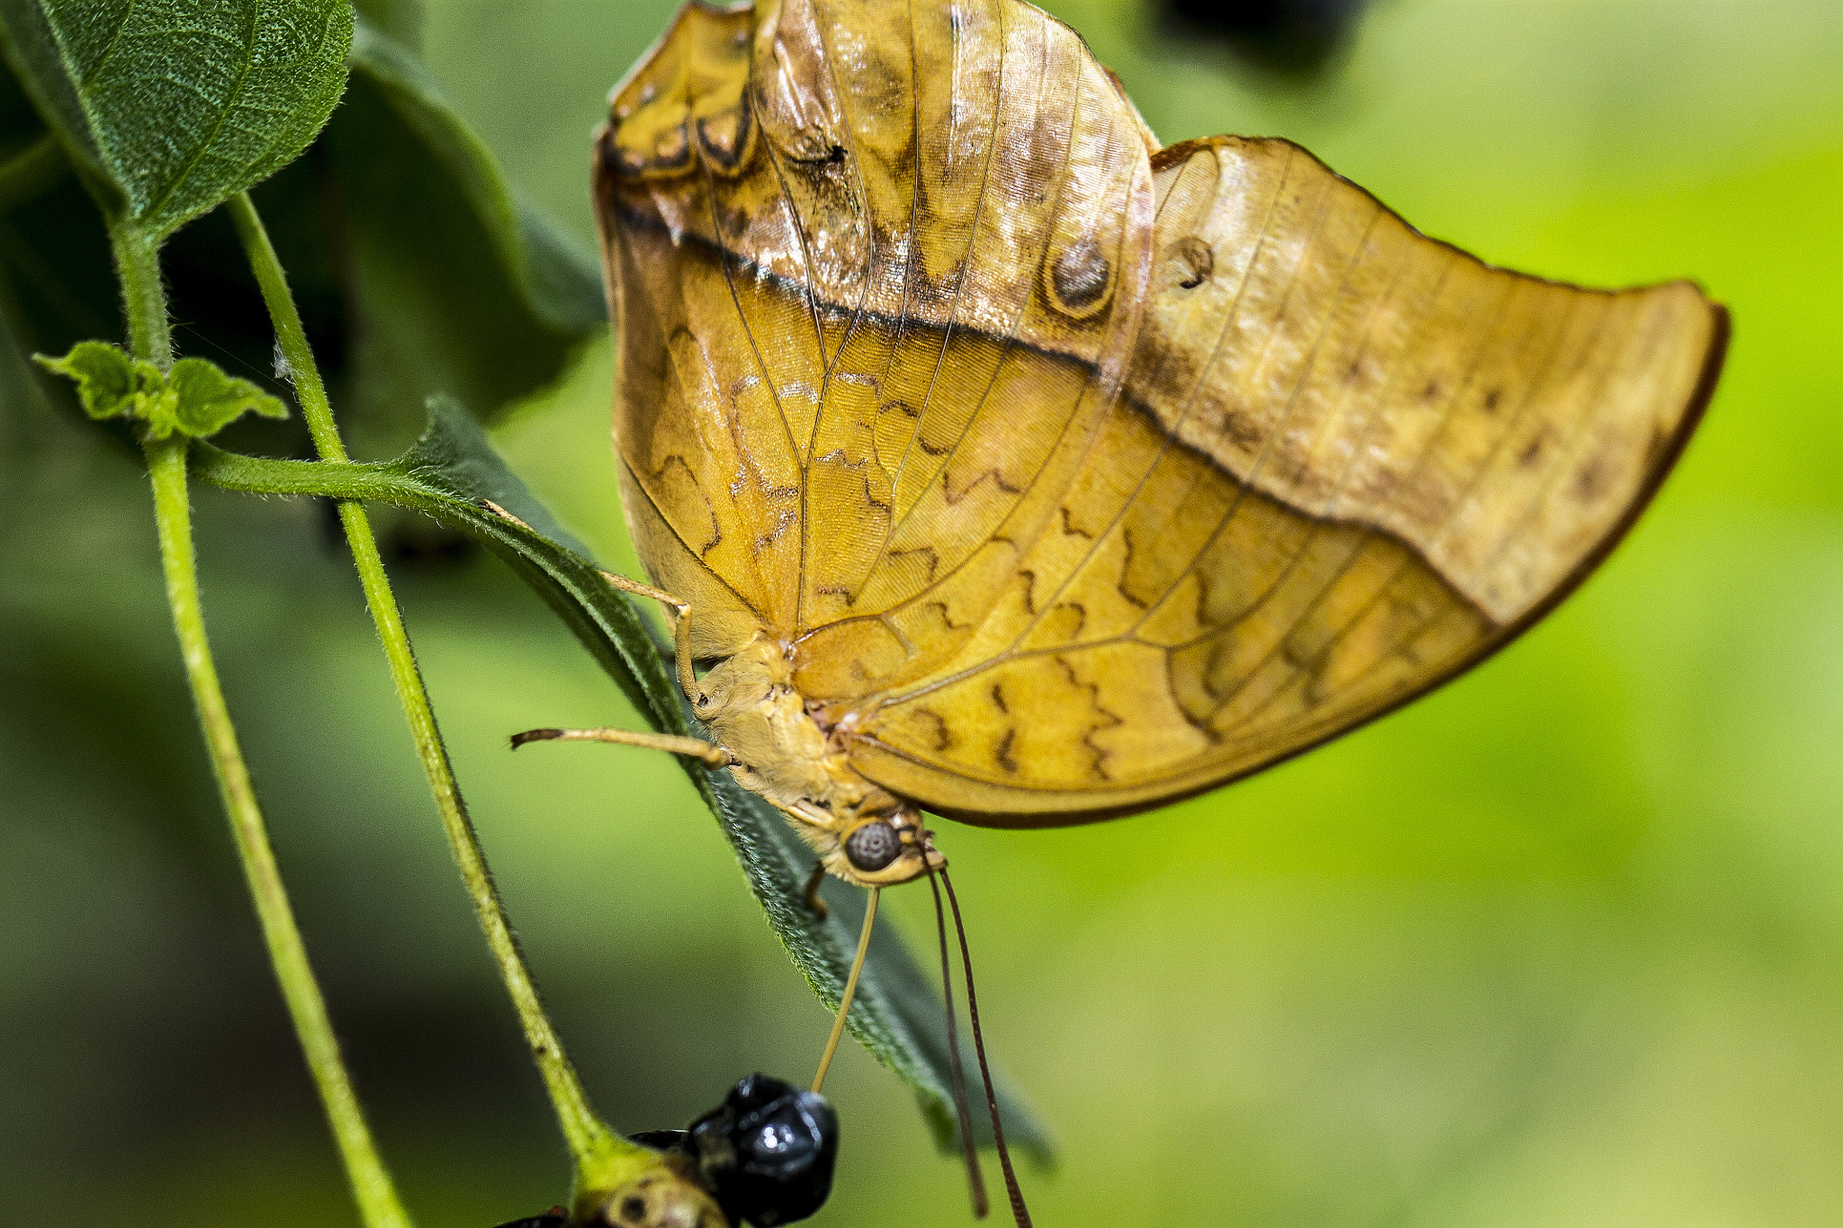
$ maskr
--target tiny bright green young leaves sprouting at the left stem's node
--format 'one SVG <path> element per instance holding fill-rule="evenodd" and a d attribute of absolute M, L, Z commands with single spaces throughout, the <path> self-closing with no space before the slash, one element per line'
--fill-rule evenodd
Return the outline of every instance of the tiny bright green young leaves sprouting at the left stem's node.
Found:
<path fill-rule="evenodd" d="M 179 359 L 173 370 L 162 372 L 103 341 L 81 341 L 61 359 L 42 353 L 33 359 L 77 383 L 77 401 L 90 418 L 135 418 L 157 440 L 175 431 L 201 440 L 247 412 L 288 416 L 278 400 L 205 359 Z"/>

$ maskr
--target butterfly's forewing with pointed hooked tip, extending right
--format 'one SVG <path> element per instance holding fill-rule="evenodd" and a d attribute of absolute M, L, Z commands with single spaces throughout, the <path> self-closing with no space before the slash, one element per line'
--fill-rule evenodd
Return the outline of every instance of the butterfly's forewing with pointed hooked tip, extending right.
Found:
<path fill-rule="evenodd" d="M 1194 794 L 1476 663 L 1618 541 L 1720 370 L 1694 285 L 1493 269 L 1286 142 L 1154 168 L 1119 411 L 968 650 L 853 747 L 973 823 Z"/>

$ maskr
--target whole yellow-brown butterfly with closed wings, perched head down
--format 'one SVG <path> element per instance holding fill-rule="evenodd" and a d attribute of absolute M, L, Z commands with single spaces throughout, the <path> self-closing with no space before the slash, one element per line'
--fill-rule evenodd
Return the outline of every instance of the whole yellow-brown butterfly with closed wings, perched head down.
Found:
<path fill-rule="evenodd" d="M 1163 147 L 1023 0 L 691 4 L 595 203 L 628 587 L 711 742 L 579 733 L 730 768 L 872 889 L 944 873 L 922 812 L 1161 806 L 1478 663 L 1631 527 L 1727 341 L 1694 284 L 1491 267 L 1290 142 Z"/>

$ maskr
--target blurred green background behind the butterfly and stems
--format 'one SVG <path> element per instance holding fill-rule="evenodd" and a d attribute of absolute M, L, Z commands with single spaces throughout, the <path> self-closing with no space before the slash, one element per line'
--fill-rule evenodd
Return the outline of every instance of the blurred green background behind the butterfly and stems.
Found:
<path fill-rule="evenodd" d="M 1290 136 L 1497 263 L 1696 276 L 1736 337 L 1653 512 L 1484 668 L 1161 814 L 949 825 L 988 1040 L 1062 1143 L 1025 1169 L 1038 1222 L 1843 1224 L 1843 6 L 1380 0 L 1314 85 L 1130 4 L 1049 7 L 1165 140 Z M 588 131 L 671 9 L 428 9 L 453 101 L 584 245 Z M 630 569 L 608 400 L 595 344 L 498 440 Z M 50 446 L 0 492 L 0 1221 L 354 1224 L 138 462 L 33 429 Z M 385 1154 L 424 1226 L 534 1213 L 562 1147 L 350 565 L 313 504 L 201 492 L 197 514 L 232 709 Z M 630 720 L 616 689 L 494 562 L 396 574 L 603 1110 L 682 1125 L 748 1070 L 805 1077 L 828 1016 L 676 768 L 505 751 Z M 923 891 L 886 906 L 931 941 Z M 813 1222 L 968 1222 L 890 1073 L 851 1049 L 828 1092 L 844 1151 Z"/>

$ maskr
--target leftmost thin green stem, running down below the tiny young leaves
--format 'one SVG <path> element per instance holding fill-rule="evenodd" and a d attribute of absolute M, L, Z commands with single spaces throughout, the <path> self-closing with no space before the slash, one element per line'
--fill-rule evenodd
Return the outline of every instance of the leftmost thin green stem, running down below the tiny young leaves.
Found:
<path fill-rule="evenodd" d="M 164 319 L 164 317 L 162 317 Z M 147 473 L 153 479 L 153 519 L 160 536 L 160 563 L 166 569 L 166 600 L 173 608 L 173 630 L 179 631 L 181 655 L 192 698 L 199 709 L 199 725 L 210 749 L 212 770 L 230 816 L 230 834 L 236 840 L 243 875 L 249 878 L 262 937 L 269 944 L 269 963 L 282 985 L 282 998 L 295 1020 L 295 1033 L 308 1057 L 308 1070 L 321 1090 L 334 1140 L 352 1180 L 352 1195 L 369 1228 L 409 1228 L 409 1215 L 396 1200 L 391 1175 L 378 1158 L 365 1114 L 345 1062 L 339 1059 L 339 1040 L 334 1037 L 326 1002 L 308 965 L 308 948 L 288 906 L 288 889 L 269 847 L 269 834 L 256 806 L 243 751 L 238 747 L 230 709 L 225 707 L 217 685 L 217 666 L 205 639 L 205 611 L 199 604 L 199 578 L 192 552 L 192 508 L 186 495 L 186 438 L 147 440 Z"/>

